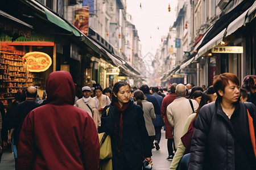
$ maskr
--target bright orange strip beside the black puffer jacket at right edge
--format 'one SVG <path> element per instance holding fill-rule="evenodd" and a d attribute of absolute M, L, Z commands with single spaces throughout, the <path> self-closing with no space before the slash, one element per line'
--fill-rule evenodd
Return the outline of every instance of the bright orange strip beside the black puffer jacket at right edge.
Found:
<path fill-rule="evenodd" d="M 248 122 L 249 122 L 249 131 L 250 131 L 250 137 L 251 137 L 251 143 L 253 144 L 253 151 L 256 158 L 256 141 L 255 141 L 255 130 L 253 126 L 253 107 L 251 107 L 251 104 L 249 102 L 245 102 L 245 107 L 247 108 L 247 116 L 248 116 Z"/>

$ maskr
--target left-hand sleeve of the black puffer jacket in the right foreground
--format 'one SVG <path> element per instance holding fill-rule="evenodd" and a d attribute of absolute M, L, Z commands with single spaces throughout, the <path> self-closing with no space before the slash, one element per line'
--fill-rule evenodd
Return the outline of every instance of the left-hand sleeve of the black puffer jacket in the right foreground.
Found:
<path fill-rule="evenodd" d="M 214 103 L 204 105 L 204 107 L 200 109 L 196 118 L 195 130 L 193 132 L 191 141 L 191 156 L 188 167 L 189 170 L 203 169 L 208 132 L 213 114 L 209 109 L 210 107 L 214 107 Z"/>

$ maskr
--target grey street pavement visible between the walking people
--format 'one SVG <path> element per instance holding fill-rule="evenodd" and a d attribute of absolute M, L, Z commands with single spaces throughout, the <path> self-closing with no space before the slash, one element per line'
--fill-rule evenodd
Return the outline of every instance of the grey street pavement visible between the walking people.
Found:
<path fill-rule="evenodd" d="M 167 139 L 165 138 L 165 131 L 162 129 L 162 137 L 159 143 L 160 150 L 156 150 L 155 148 L 152 149 L 152 162 L 153 168 L 152 170 L 167 170 L 170 168 L 171 161 L 168 161 L 166 158 L 168 157 L 167 151 Z M 11 152 L 4 152 L 1 163 L 0 163 L 1 170 L 14 170 L 15 163 L 14 163 L 14 156 Z"/>

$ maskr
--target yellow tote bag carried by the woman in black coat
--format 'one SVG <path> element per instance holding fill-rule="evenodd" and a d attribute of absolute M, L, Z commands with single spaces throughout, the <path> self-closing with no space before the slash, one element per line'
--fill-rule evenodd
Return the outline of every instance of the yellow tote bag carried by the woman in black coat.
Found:
<path fill-rule="evenodd" d="M 106 115 L 108 116 L 109 108 L 106 109 Z M 112 158 L 112 147 L 111 147 L 111 139 L 110 135 L 106 133 L 98 134 L 98 138 L 100 141 L 100 159 L 110 159 Z"/>

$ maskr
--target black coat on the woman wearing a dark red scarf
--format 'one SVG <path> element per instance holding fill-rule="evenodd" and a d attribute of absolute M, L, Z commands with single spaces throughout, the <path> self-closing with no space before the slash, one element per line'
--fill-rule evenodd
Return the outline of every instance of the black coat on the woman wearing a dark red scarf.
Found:
<path fill-rule="evenodd" d="M 108 117 L 106 108 L 110 107 Z M 128 108 L 122 113 L 122 142 L 119 146 L 119 124 L 121 114 L 113 103 L 102 112 L 101 127 L 98 133 L 105 132 L 111 137 L 114 169 L 136 169 L 141 166 L 144 158 L 152 156 L 149 137 L 143 117 L 142 108 L 129 102 Z M 118 152 L 119 147 L 119 152 Z"/>

